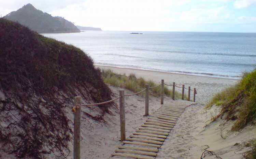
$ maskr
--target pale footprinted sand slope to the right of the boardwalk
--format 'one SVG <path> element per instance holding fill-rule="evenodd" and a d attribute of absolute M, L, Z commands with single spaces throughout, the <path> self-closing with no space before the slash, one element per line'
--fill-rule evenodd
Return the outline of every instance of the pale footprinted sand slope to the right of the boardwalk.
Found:
<path fill-rule="evenodd" d="M 200 158 L 204 149 L 215 152 L 223 159 L 243 158 L 242 153 L 247 150 L 244 142 L 256 137 L 256 126 L 247 126 L 240 132 L 230 132 L 233 122 L 226 122 L 221 118 L 211 122 L 211 118 L 219 113 L 220 107 L 213 106 L 210 110 L 203 107 L 204 105 L 192 105 L 186 108 L 175 129 L 169 134 L 169 142 L 166 141 L 161 147 L 157 158 Z M 216 157 L 206 155 L 204 158 Z"/>

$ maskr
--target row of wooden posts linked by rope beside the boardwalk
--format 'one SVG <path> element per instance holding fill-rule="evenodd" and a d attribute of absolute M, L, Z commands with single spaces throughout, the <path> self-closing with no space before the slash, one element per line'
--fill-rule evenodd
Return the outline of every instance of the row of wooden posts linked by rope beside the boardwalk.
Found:
<path fill-rule="evenodd" d="M 82 106 L 92 106 L 92 105 L 102 105 L 102 104 L 107 104 L 110 102 L 113 102 L 117 99 L 119 99 L 119 110 L 120 110 L 120 138 L 121 141 L 124 141 L 126 139 L 125 137 L 125 96 L 132 96 L 139 94 L 143 91 L 145 91 L 145 116 L 149 115 L 149 89 L 150 88 L 156 88 L 161 86 L 161 100 L 160 104 L 163 104 L 163 95 L 164 95 L 164 86 L 172 86 L 172 99 L 175 100 L 175 87 L 182 88 L 182 100 L 184 100 L 184 90 L 188 89 L 188 101 L 190 101 L 190 91 L 194 92 L 194 102 L 196 100 L 196 88 L 194 90 L 191 90 L 190 87 L 186 88 L 185 85 L 182 85 L 182 87 L 179 87 L 175 85 L 175 82 L 173 82 L 172 85 L 168 85 L 164 83 L 163 79 L 161 80 L 161 84 L 154 86 L 154 87 L 149 87 L 148 84 L 145 85 L 145 89 L 133 93 L 133 94 L 126 94 L 124 90 L 119 90 L 119 96 L 106 101 L 106 102 L 101 102 L 101 103 L 94 103 L 94 104 L 82 104 L 82 97 L 81 96 L 76 96 L 74 98 L 74 107 L 72 108 L 72 111 L 74 112 L 74 147 L 73 147 L 73 158 L 74 159 L 79 159 L 80 158 L 80 138 L 81 138 L 81 107 Z"/>

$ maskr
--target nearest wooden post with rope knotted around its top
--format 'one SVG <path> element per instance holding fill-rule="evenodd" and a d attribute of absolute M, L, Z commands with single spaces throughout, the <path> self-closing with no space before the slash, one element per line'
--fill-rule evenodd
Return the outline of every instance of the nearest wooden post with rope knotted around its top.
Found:
<path fill-rule="evenodd" d="M 75 97 L 75 112 L 74 112 L 74 145 L 73 145 L 73 157 L 74 159 L 80 159 L 80 131 L 81 131 L 81 96 Z"/>

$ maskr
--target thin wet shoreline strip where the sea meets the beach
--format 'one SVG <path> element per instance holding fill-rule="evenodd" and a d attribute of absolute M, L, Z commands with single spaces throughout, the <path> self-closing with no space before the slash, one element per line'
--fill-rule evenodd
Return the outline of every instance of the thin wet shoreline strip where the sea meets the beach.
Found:
<path fill-rule="evenodd" d="M 142 70 L 142 71 L 153 71 L 153 72 L 161 72 L 161 73 L 170 73 L 170 74 L 178 74 L 178 75 L 187 75 L 187 76 L 199 76 L 199 77 L 209 77 L 209 78 L 221 78 L 221 79 L 231 79 L 239 81 L 240 78 L 225 78 L 225 77 L 216 77 L 217 75 L 206 76 L 206 75 L 195 75 L 195 74 L 186 74 L 186 73 L 176 73 L 176 72 L 168 72 L 168 71 L 159 71 L 159 70 L 148 70 L 148 69 L 138 69 L 138 68 L 131 68 L 131 67 L 123 67 L 123 66 L 111 66 L 111 65 L 99 65 L 94 64 L 95 67 L 110 67 L 110 68 L 121 68 L 121 69 L 132 69 L 132 70 Z M 200 73 L 199 73 L 200 74 Z M 206 73 L 202 73 L 206 74 Z M 210 73 L 209 73 L 210 74 Z M 240 76 L 241 77 L 241 76 Z"/>

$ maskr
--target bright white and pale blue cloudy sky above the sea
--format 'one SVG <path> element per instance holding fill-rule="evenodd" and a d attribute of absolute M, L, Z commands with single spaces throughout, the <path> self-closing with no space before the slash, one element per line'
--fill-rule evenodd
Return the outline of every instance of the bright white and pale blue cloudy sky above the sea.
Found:
<path fill-rule="evenodd" d="M 256 0 L 0 0 L 0 15 L 27 3 L 105 31 L 256 32 Z"/>

